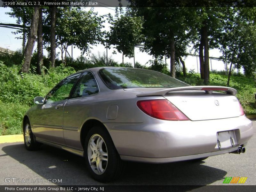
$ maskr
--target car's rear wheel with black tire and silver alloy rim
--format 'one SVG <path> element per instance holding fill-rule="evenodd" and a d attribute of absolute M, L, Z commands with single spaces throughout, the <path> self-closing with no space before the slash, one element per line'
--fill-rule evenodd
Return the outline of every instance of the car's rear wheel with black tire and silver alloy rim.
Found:
<path fill-rule="evenodd" d="M 96 125 L 86 135 L 84 143 L 86 167 L 94 180 L 116 180 L 122 173 L 124 162 L 105 127 Z"/>

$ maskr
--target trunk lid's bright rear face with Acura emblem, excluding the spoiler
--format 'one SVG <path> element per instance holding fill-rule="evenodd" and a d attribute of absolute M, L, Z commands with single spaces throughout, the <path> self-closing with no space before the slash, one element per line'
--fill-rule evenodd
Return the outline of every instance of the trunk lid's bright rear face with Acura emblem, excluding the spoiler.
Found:
<path fill-rule="evenodd" d="M 234 95 L 180 92 L 169 93 L 164 97 L 192 121 L 240 116 L 240 105 Z"/>

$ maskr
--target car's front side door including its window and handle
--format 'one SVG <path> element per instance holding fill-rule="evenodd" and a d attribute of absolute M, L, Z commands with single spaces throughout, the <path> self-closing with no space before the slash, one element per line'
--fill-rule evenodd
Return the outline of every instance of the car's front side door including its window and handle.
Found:
<path fill-rule="evenodd" d="M 33 132 L 38 139 L 66 145 L 63 136 L 63 109 L 70 92 L 82 73 L 67 77 L 46 96 L 44 104 L 38 105 L 33 117 Z"/>

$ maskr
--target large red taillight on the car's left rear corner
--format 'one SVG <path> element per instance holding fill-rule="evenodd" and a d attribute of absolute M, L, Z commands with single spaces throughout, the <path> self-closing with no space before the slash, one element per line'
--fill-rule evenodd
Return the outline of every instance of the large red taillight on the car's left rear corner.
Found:
<path fill-rule="evenodd" d="M 147 115 L 169 121 L 189 120 L 177 107 L 166 99 L 141 100 L 137 101 L 137 106 Z"/>

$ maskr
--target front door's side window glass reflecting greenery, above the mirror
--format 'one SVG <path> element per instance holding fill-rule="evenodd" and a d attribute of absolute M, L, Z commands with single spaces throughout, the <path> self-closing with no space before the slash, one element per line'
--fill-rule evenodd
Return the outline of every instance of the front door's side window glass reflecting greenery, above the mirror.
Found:
<path fill-rule="evenodd" d="M 81 73 L 70 76 L 61 81 L 52 91 L 46 96 L 46 103 L 66 100 L 69 97 L 70 91 Z"/>

